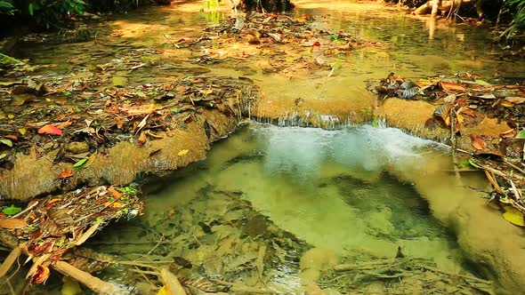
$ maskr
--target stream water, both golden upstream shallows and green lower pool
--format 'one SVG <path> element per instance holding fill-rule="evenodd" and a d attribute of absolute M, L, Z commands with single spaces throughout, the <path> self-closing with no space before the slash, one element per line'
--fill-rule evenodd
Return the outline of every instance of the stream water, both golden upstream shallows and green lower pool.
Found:
<path fill-rule="evenodd" d="M 472 71 L 489 81 L 495 75 L 513 79 L 525 73 L 525 63 L 498 58 L 501 52 L 485 28 L 438 26 L 429 39 L 426 21 L 403 12 L 381 11 L 376 4 L 295 3 L 299 14 L 324 16 L 320 27 L 351 31 L 391 47 L 354 51 L 342 60 L 341 72 L 329 82 L 297 77 L 292 83 L 283 76 L 264 76 L 253 68 L 224 64 L 208 67 L 211 74 L 249 74 L 270 98 L 359 100 L 368 95 L 364 81 L 384 77 L 389 71 L 412 77 Z M 119 38 L 125 46 L 166 48 L 170 46 L 166 35 L 198 36 L 208 22 L 206 13 L 198 12 L 201 7 L 200 2 L 192 2 L 141 8 L 112 17 L 96 29 L 101 36 L 122 31 Z M 58 65 L 40 70 L 45 73 L 85 68 L 93 60 L 111 60 L 118 53 L 118 49 L 108 50 L 93 42 L 27 44 L 18 54 L 36 64 Z M 82 59 L 84 63 L 76 61 Z M 166 75 L 133 73 L 130 83 L 156 81 Z M 297 292 L 302 283 L 309 282 L 301 269 L 323 268 L 304 266 L 308 264 L 304 253 L 311 248 L 319 250 L 319 257 L 311 260 L 320 265 L 342 257 L 393 258 L 401 247 L 405 256 L 432 259 L 444 271 L 475 274 L 476 267 L 465 259 L 456 237 L 432 217 L 424 198 L 392 173 L 431 165 L 429 159 L 440 159 L 446 153 L 431 141 L 391 128 L 325 131 L 250 124 L 214 144 L 205 161 L 145 186 L 150 192 L 144 199 L 145 215 L 109 226 L 89 245 L 125 260 L 183 258 L 206 275 L 246 283 L 257 281 L 254 269 L 262 241 L 274 248 L 279 244 L 287 252 L 279 257 L 285 259 L 270 263 L 274 267 L 267 268 L 270 275 L 265 277 L 267 286 L 284 293 Z M 233 242 L 224 242 L 219 254 L 217 246 L 228 238 Z M 235 252 L 238 249 L 242 255 Z M 252 252 L 254 256 L 249 256 Z M 214 263 L 217 258 L 223 263 Z M 130 277 L 140 281 L 140 275 L 125 274 L 117 268 L 101 277 L 128 284 Z M 42 292 L 58 292 L 61 283 L 53 285 Z"/>

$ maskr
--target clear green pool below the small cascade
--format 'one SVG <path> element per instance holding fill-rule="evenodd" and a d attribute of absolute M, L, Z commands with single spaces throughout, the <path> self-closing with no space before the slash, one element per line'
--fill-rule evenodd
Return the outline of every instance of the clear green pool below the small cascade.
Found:
<path fill-rule="evenodd" d="M 214 245 L 226 239 L 217 234 L 224 227 L 217 214 L 230 213 L 225 209 L 231 207 L 230 201 L 223 198 L 233 196 L 248 201 L 250 210 L 262 214 L 280 231 L 319 251 L 315 253 L 320 261 L 393 258 L 401 247 L 404 255 L 431 259 L 441 270 L 472 271 L 455 237 L 432 217 L 424 198 L 410 183 L 400 182 L 389 172 L 412 169 L 444 154 L 447 150 L 442 146 L 393 128 L 365 125 L 326 131 L 250 124 L 214 144 L 205 161 L 146 186 L 154 192 L 144 199 L 144 216 L 107 228 L 89 246 L 133 260 L 158 241 L 177 240 L 182 236 L 181 228 L 186 228 L 196 231 L 196 239 L 201 241 L 198 249 L 205 247 L 206 254 L 191 247 L 181 251 L 179 244 L 166 242 L 149 252 L 148 259 L 181 255 L 192 263 L 202 261 L 207 275 L 223 275 L 214 274 L 214 268 L 206 264 L 206 258 L 212 258 L 206 255 L 217 255 L 221 263 L 229 263 L 226 256 L 214 254 Z M 187 220 L 188 225 L 178 218 Z M 202 233 L 203 222 L 214 239 Z M 250 236 L 249 231 L 243 231 L 239 240 Z M 228 232 L 230 235 L 235 234 Z M 193 240 L 182 239 L 187 243 Z M 308 263 L 302 255 L 308 254 L 303 251 L 297 257 L 300 269 Z M 274 269 L 268 285 L 285 293 L 299 292 L 301 283 L 309 278 L 307 272 L 295 269 L 297 262 L 288 261 L 290 269 L 283 269 L 286 264 Z M 240 274 L 245 281 L 245 275 Z M 117 272 L 109 277 L 120 280 L 122 275 Z"/>

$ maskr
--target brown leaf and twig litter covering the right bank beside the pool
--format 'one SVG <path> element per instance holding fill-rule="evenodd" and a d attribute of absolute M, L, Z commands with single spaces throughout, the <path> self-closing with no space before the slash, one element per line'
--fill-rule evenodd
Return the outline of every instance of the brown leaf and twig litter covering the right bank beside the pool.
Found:
<path fill-rule="evenodd" d="M 425 128 L 448 130 L 447 141 L 457 159 L 457 171 L 464 168 L 463 163 L 485 171 L 493 188 L 487 192 L 489 205 L 513 225 L 525 227 L 521 188 L 525 187 L 525 85 L 490 84 L 471 73 L 416 82 L 391 73 L 380 81 L 369 81 L 367 89 L 380 101 L 399 98 L 436 105 Z M 469 133 L 487 118 L 496 118 L 510 129 L 498 136 Z"/>

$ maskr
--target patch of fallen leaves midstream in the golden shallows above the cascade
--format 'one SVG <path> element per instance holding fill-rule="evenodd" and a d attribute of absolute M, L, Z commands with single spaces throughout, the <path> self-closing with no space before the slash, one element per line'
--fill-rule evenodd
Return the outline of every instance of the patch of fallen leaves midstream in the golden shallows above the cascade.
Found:
<path fill-rule="evenodd" d="M 175 50 L 198 52 L 194 63 L 234 62 L 263 74 L 332 76 L 347 54 L 360 47 L 386 49 L 350 32 L 316 28 L 315 18 L 252 12 L 204 29 L 195 38 L 170 41 Z"/>

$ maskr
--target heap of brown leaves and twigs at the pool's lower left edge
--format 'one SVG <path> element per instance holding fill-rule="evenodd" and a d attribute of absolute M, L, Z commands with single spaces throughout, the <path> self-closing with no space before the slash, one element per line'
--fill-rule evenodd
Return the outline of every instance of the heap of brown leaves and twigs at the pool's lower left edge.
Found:
<path fill-rule="evenodd" d="M 35 199 L 23 211 L 7 211 L 12 208 L 7 207 L 0 216 L 0 231 L 24 244 L 27 261 L 35 258 L 29 281 L 44 283 L 50 263 L 64 260 L 70 249 L 85 243 L 110 220 L 141 215 L 138 195 L 127 192 L 121 187 L 92 187 Z"/>

